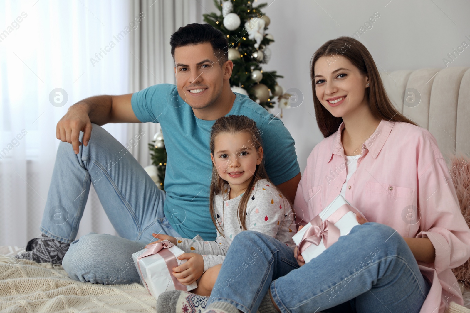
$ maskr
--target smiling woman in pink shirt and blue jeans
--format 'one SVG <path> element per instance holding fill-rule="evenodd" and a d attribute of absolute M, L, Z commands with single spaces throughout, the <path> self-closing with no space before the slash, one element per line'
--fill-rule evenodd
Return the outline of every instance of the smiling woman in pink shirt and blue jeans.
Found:
<path fill-rule="evenodd" d="M 359 41 L 326 42 L 311 64 L 325 137 L 298 185 L 305 225 L 338 194 L 365 216 L 308 263 L 263 234 L 235 237 L 204 312 L 421 312 L 462 305 L 451 268 L 470 257 L 470 230 L 429 131 L 399 114 Z"/>

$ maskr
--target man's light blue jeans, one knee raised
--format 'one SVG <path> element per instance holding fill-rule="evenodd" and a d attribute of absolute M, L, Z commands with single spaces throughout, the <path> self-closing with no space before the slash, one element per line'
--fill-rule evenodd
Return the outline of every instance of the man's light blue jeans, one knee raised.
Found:
<path fill-rule="evenodd" d="M 82 141 L 83 132 L 79 140 Z M 139 145 L 147 145 L 141 139 Z M 89 233 L 75 240 L 90 183 L 120 237 Z M 133 155 L 97 124 L 79 153 L 61 142 L 40 230 L 71 243 L 63 268 L 72 279 L 93 283 L 140 282 L 131 254 L 156 239 L 152 233 L 179 234 L 165 218 L 164 191 Z"/>

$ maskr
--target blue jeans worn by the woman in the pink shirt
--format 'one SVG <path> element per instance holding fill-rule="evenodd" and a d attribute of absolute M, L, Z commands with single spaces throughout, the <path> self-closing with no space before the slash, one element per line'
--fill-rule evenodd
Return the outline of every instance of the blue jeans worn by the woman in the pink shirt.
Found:
<path fill-rule="evenodd" d="M 238 234 L 208 305 L 255 313 L 271 290 L 281 312 L 419 312 L 430 289 L 405 240 L 368 222 L 299 267 L 293 250 L 255 231 Z"/>

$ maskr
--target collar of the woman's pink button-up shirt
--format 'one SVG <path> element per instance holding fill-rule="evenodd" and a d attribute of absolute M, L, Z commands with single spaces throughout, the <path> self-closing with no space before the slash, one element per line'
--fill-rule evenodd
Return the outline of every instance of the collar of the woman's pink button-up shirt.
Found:
<path fill-rule="evenodd" d="M 361 147 L 362 151 L 364 151 L 364 149 L 367 149 L 369 153 L 371 153 L 371 155 L 375 159 L 377 155 L 379 154 L 380 150 L 382 150 L 382 147 L 384 146 L 385 141 L 388 138 L 388 135 L 390 135 L 390 132 L 392 131 L 392 127 L 394 123 L 395 122 L 392 122 L 392 121 L 385 121 L 385 120 L 380 121 L 374 134 L 372 134 L 362 145 Z M 345 122 L 341 122 L 337 132 L 332 135 L 333 136 L 332 153 L 331 153 L 331 157 L 327 160 L 327 164 L 333 158 L 333 154 L 339 154 L 341 156 L 345 155 L 345 152 L 343 149 L 343 143 L 341 142 L 341 133 L 344 129 L 345 129 Z"/>

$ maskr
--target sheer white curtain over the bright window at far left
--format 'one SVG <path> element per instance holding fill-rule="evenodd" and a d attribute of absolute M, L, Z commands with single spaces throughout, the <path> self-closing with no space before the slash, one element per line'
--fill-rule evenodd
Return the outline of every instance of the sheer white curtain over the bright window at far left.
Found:
<path fill-rule="evenodd" d="M 132 21 L 129 8 L 125 0 L 0 2 L 0 245 L 21 247 L 40 233 L 60 142 L 55 128 L 67 109 L 131 92 L 130 36 L 113 37 Z M 49 100 L 55 88 L 68 97 L 62 106 Z M 127 141 L 127 124 L 104 128 Z M 89 231 L 114 234 L 93 188 L 79 235 Z"/>

